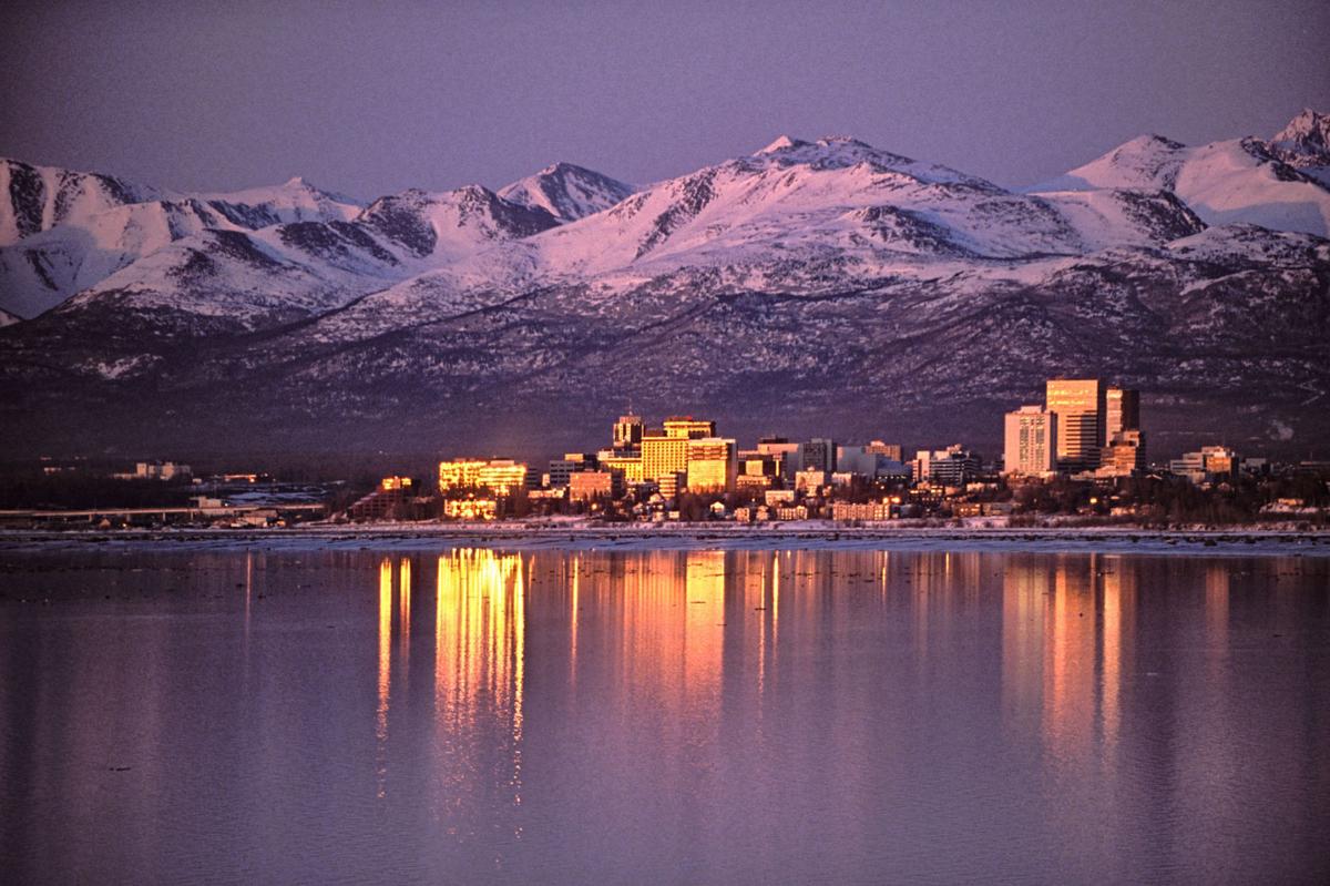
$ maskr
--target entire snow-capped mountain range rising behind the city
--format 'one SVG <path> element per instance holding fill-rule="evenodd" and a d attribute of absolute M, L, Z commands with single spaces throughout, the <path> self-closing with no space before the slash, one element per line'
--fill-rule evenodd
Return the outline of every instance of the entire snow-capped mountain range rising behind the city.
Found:
<path fill-rule="evenodd" d="M 1142 136 L 1020 192 L 845 137 L 644 188 L 560 162 L 368 205 L 3 161 L 0 406 L 39 447 L 72 402 L 144 427 L 146 391 L 189 415 L 146 419 L 156 439 L 407 420 L 460 446 L 629 396 L 942 434 L 1099 372 L 1153 392 L 1161 428 L 1218 396 L 1242 432 L 1301 438 L 1330 386 L 1327 121 Z"/>

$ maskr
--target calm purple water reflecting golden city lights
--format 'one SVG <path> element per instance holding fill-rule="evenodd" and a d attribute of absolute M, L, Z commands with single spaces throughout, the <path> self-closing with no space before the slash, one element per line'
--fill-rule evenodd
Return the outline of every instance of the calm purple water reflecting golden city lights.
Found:
<path fill-rule="evenodd" d="M 1327 882 L 1330 559 L 5 555 L 24 882 Z"/>

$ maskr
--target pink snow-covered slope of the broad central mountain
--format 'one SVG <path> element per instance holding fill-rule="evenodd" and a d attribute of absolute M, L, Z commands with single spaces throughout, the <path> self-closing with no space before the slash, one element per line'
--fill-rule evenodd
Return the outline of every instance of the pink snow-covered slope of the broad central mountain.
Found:
<path fill-rule="evenodd" d="M 584 299 L 612 310 L 622 293 L 685 270 L 709 285 L 801 295 L 883 278 L 946 278 L 976 265 L 1000 275 L 1049 257 L 1157 247 L 1202 229 L 1162 192 L 1028 197 L 854 140 L 781 138 L 580 221 L 404 278 L 311 334 L 371 338 L 560 285 L 580 286 Z"/>

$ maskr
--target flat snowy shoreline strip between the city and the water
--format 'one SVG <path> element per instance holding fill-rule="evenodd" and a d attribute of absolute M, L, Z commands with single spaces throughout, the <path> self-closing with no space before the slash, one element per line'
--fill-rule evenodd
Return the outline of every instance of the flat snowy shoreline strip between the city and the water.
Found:
<path fill-rule="evenodd" d="M 255 529 L 0 529 L 5 553 L 90 551 L 994 551 L 1330 556 L 1330 531 L 1178 528 L 838 525 L 821 520 L 734 524 L 305 524 Z"/>

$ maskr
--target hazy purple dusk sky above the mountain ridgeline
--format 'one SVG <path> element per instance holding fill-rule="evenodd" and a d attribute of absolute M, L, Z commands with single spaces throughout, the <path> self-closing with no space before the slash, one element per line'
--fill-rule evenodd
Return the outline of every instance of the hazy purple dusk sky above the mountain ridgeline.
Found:
<path fill-rule="evenodd" d="M 374 197 L 568 160 L 646 182 L 779 133 L 1004 185 L 1330 109 L 1330 3 L 69 3 L 0 11 L 0 154 Z"/>

